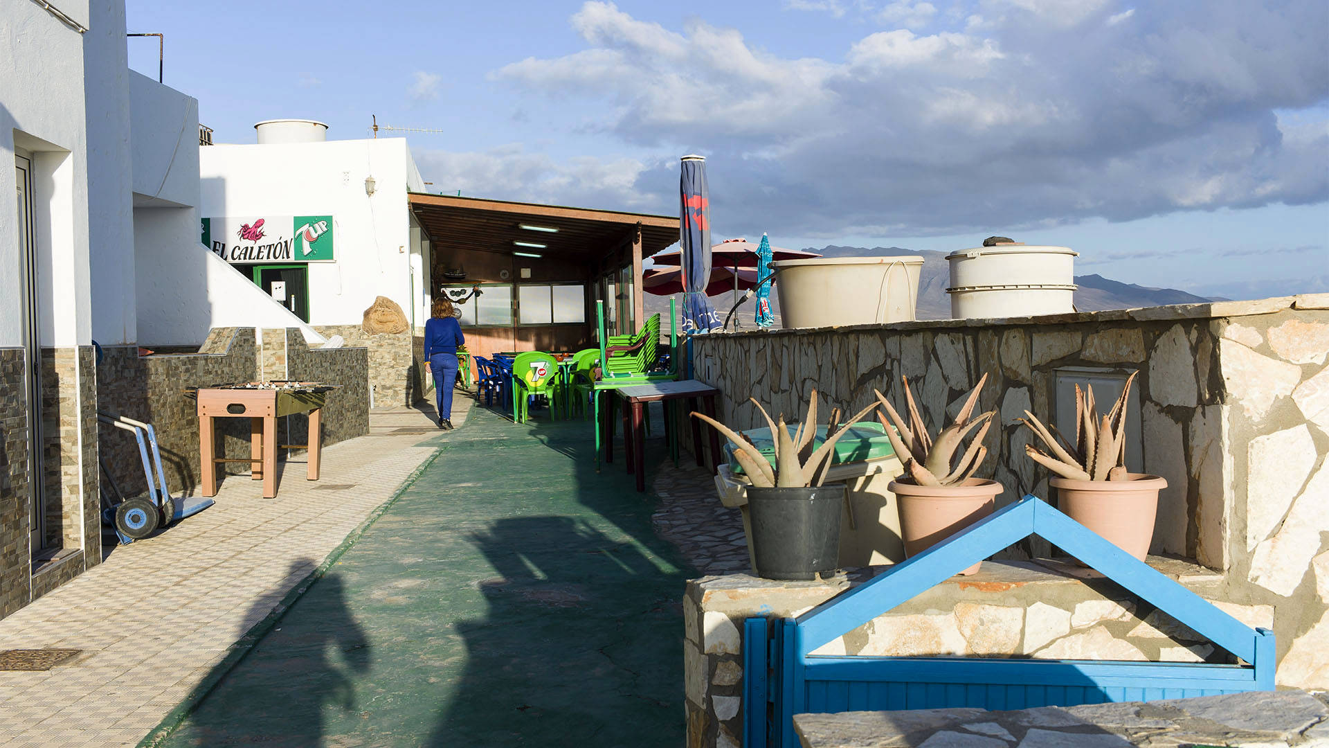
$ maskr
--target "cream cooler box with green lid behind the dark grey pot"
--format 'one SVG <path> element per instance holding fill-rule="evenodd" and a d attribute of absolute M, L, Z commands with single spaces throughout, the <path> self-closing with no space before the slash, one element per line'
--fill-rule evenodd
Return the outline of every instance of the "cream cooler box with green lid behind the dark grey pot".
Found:
<path fill-rule="evenodd" d="M 792 437 L 797 423 L 787 426 Z M 817 426 L 813 443 L 820 445 L 825 439 L 825 425 Z M 769 429 L 751 429 L 743 431 L 743 435 L 756 445 L 771 465 L 775 465 Z M 752 563 L 752 568 L 756 568 L 752 559 L 752 524 L 747 510 L 747 487 L 751 486 L 751 480 L 734 459 L 734 445 L 724 443 L 724 454 L 728 459 L 720 465 L 719 474 L 715 476 L 715 488 L 720 495 L 720 503 L 727 507 L 739 507 L 743 511 L 748 562 Z M 881 566 L 905 559 L 905 546 L 900 539 L 900 511 L 896 495 L 886 490 L 886 484 L 902 472 L 904 466 L 896 458 L 890 439 L 880 423 L 860 421 L 836 442 L 825 482 L 844 483 L 848 487 L 845 506 L 840 511 L 839 564 L 841 567 Z"/>

